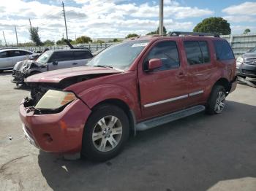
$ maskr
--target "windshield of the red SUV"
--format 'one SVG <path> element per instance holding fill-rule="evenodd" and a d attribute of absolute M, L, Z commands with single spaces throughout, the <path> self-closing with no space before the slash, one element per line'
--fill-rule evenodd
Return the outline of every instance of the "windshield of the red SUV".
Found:
<path fill-rule="evenodd" d="M 112 45 L 100 52 L 87 66 L 111 67 L 126 70 L 147 44 L 147 40 L 142 40 Z"/>

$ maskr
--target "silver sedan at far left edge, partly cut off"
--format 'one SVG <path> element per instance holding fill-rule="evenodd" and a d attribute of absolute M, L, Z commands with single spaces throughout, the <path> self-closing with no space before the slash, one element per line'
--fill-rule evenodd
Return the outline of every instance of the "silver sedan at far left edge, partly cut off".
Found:
<path fill-rule="evenodd" d="M 0 50 L 0 71 L 12 69 L 18 61 L 33 58 L 37 53 L 22 49 Z"/>

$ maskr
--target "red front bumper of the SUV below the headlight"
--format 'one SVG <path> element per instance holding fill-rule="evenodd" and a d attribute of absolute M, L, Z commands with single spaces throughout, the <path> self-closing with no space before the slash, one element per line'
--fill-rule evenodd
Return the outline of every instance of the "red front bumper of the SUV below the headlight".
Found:
<path fill-rule="evenodd" d="M 25 98 L 20 104 L 20 119 L 26 139 L 45 152 L 74 154 L 80 152 L 83 128 L 91 113 L 79 98 L 61 110 L 39 112 L 33 98 Z"/>

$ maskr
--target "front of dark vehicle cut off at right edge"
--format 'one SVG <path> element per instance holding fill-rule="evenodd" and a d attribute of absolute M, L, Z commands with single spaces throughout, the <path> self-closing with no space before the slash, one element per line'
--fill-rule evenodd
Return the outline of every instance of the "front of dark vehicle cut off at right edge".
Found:
<path fill-rule="evenodd" d="M 239 77 L 256 78 L 256 47 L 236 59 L 236 73 Z"/>

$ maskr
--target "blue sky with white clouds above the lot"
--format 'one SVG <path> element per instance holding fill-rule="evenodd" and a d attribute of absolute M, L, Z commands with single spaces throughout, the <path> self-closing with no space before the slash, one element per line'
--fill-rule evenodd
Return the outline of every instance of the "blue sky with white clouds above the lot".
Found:
<path fill-rule="evenodd" d="M 69 0 L 64 1 L 69 39 L 75 36 L 122 38 L 130 33 L 145 35 L 159 26 L 159 0 Z M 207 17 L 223 17 L 232 34 L 250 28 L 256 33 L 256 1 L 164 0 L 164 26 L 167 31 L 192 31 Z M 39 28 L 42 41 L 57 41 L 65 35 L 60 0 L 1 0 L 0 42 L 29 42 L 31 25 Z"/>

